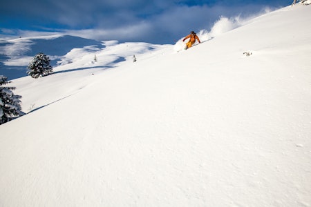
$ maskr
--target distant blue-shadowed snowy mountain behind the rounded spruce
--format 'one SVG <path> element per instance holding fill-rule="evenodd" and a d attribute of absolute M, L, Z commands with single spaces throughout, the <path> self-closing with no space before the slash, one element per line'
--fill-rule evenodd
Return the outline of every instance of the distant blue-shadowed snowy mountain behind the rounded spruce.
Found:
<path fill-rule="evenodd" d="M 29 61 L 39 52 L 44 52 L 55 66 L 62 56 L 74 48 L 93 46 L 89 50 L 102 49 L 101 41 L 74 37 L 70 35 L 53 35 L 46 37 L 19 38 L 0 41 L 0 75 L 8 79 L 26 76 Z"/>

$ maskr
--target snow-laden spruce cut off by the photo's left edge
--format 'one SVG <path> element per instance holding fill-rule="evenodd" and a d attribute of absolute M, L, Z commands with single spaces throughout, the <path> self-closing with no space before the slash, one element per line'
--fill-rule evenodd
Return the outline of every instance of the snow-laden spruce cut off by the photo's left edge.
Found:
<path fill-rule="evenodd" d="M 21 96 L 14 95 L 12 90 L 15 87 L 3 87 L 8 83 L 7 77 L 0 75 L 0 124 L 4 124 L 12 119 L 23 115 L 21 112 Z"/>

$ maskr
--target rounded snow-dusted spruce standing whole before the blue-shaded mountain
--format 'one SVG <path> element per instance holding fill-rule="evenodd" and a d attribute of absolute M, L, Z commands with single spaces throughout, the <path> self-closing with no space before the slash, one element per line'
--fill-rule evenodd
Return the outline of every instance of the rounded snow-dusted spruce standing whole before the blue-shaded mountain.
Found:
<path fill-rule="evenodd" d="M 50 58 L 44 55 L 42 52 L 37 54 L 28 65 L 28 75 L 37 79 L 49 75 L 53 72 L 52 66 L 50 66 Z"/>

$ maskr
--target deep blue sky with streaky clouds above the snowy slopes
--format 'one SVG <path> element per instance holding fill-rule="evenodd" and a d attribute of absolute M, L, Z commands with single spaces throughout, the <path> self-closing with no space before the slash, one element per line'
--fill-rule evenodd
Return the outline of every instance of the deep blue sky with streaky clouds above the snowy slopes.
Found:
<path fill-rule="evenodd" d="M 220 16 L 243 18 L 290 0 L 8 0 L 0 3 L 0 37 L 71 34 L 97 40 L 174 43 L 210 30 Z"/>

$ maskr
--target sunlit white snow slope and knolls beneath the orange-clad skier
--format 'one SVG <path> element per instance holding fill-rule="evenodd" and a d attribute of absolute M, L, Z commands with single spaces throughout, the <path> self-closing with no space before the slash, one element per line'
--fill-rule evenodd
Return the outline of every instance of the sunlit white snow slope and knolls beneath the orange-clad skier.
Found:
<path fill-rule="evenodd" d="M 310 22 L 298 4 L 12 80 L 28 114 L 0 126 L 0 206 L 311 206 Z"/>

